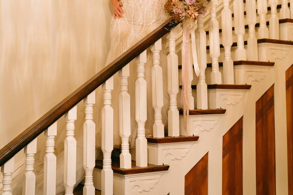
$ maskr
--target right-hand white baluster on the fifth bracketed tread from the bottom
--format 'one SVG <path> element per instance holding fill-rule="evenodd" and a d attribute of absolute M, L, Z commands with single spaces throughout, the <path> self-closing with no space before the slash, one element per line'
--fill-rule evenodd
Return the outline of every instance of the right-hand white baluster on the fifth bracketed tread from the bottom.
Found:
<path fill-rule="evenodd" d="M 247 57 L 248 60 L 258 61 L 257 52 L 257 39 L 255 36 L 255 24 L 256 24 L 256 2 L 255 0 L 246 1 L 246 18 L 249 27 L 249 37 L 247 40 Z"/>

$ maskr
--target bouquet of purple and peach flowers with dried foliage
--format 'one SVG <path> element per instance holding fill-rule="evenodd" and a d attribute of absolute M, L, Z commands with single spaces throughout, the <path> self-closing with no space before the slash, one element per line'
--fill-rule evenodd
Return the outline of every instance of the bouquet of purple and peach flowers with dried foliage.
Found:
<path fill-rule="evenodd" d="M 175 22 L 184 22 L 186 19 L 194 21 L 210 7 L 208 0 L 167 0 L 165 12 Z"/>

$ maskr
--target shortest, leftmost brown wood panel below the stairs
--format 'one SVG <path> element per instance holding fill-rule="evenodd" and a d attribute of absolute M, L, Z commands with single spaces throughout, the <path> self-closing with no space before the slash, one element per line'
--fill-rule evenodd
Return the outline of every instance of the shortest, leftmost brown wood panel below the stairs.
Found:
<path fill-rule="evenodd" d="M 208 195 L 208 153 L 185 175 L 185 195 Z"/>

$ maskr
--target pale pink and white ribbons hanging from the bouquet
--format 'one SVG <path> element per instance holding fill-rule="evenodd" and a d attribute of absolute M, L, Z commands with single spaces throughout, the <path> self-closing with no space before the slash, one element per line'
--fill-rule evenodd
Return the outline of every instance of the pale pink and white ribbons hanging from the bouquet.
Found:
<path fill-rule="evenodd" d="M 186 127 L 187 133 L 189 134 L 189 92 L 188 92 L 188 81 L 189 81 L 189 70 L 191 66 L 190 62 L 190 25 L 189 23 L 183 23 L 183 41 L 182 41 L 182 92 L 181 92 L 181 105 L 183 105 L 183 120 L 184 126 Z M 197 53 L 195 46 L 195 32 L 191 30 L 191 49 L 192 58 L 194 64 L 195 74 L 198 76 L 200 73 Z M 192 73 L 192 72 L 191 72 Z"/>

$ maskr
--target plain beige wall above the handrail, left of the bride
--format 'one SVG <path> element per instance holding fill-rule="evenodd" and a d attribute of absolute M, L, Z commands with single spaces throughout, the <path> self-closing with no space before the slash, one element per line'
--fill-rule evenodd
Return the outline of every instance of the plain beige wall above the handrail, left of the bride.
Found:
<path fill-rule="evenodd" d="M 0 148 L 97 73 L 109 0 L 0 0 Z"/>

